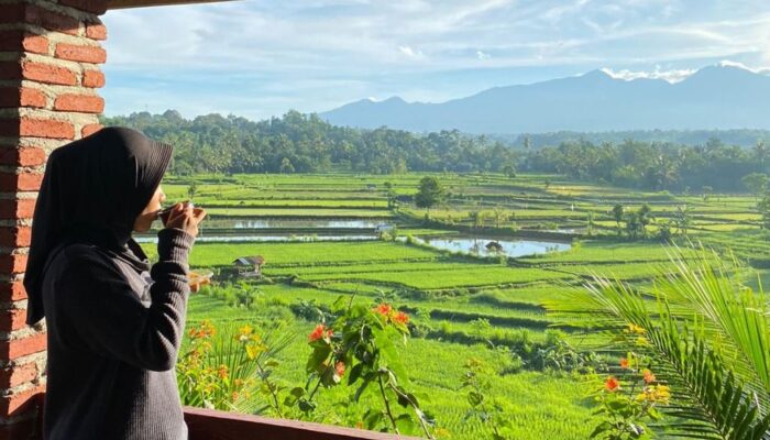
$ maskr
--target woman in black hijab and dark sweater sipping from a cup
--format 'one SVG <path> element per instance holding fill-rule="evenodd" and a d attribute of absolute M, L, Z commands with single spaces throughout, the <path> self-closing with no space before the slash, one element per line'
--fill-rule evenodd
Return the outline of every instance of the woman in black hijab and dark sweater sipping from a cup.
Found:
<path fill-rule="evenodd" d="M 177 204 L 152 266 L 131 238 L 158 217 L 170 157 L 107 128 L 48 158 L 24 275 L 26 321 L 47 327 L 46 440 L 187 438 L 174 365 L 206 212 Z"/>

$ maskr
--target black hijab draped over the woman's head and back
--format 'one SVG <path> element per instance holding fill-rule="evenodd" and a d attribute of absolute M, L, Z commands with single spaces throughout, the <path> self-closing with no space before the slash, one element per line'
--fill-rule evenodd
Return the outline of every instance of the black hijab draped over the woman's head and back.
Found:
<path fill-rule="evenodd" d="M 138 268 L 147 266 L 131 232 L 170 157 L 170 145 L 124 128 L 105 128 L 51 153 L 37 195 L 24 274 L 28 324 L 45 316 L 43 274 L 59 243 L 92 243 Z"/>

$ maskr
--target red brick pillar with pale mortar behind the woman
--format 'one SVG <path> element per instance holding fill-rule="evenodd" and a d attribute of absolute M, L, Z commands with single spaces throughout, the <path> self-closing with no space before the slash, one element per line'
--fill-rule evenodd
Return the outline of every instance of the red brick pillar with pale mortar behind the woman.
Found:
<path fill-rule="evenodd" d="M 0 0 L 0 440 L 37 439 L 44 323 L 22 286 L 47 154 L 100 128 L 106 0 Z M 87 374 L 87 372 L 84 372 Z"/>

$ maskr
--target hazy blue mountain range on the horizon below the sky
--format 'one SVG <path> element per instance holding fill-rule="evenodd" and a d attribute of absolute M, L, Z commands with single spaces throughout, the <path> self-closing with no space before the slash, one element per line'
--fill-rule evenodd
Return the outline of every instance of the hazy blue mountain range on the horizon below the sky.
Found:
<path fill-rule="evenodd" d="M 319 114 L 337 125 L 414 132 L 603 132 L 770 129 L 770 76 L 734 65 L 701 68 L 679 82 L 615 78 L 604 70 L 495 87 L 440 103 L 363 99 Z"/>

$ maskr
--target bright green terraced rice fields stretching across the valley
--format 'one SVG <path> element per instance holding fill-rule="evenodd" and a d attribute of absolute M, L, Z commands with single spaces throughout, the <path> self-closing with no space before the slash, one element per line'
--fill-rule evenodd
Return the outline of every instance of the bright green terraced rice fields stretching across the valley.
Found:
<path fill-rule="evenodd" d="M 188 326 L 202 319 L 228 321 L 282 321 L 296 337 L 280 353 L 276 377 L 286 386 L 307 378 L 305 362 L 310 352 L 307 334 L 317 323 L 295 312 L 298 305 L 331 305 L 342 296 L 351 302 L 374 304 L 377 298 L 408 310 L 417 330 L 400 346 L 411 382 L 430 394 L 425 408 L 437 417 L 439 437 L 490 438 L 488 425 L 464 420 L 470 405 L 459 389 L 464 363 L 479 359 L 491 365 L 508 365 L 493 345 L 543 343 L 552 327 L 565 331 L 573 344 L 570 321 L 544 312 L 544 301 L 563 300 L 566 292 L 581 288 L 593 274 L 604 274 L 645 286 L 676 252 L 662 245 L 656 234 L 675 220 L 678 207 L 688 204 L 691 223 L 675 240 L 702 243 L 734 255 L 770 278 L 770 242 L 759 228 L 752 197 L 711 195 L 683 197 L 669 193 L 644 193 L 570 182 L 559 176 L 436 175 L 449 195 L 443 206 L 426 211 L 414 207 L 422 175 L 234 175 L 196 176 L 193 199 L 212 219 L 384 219 L 398 226 L 403 237 L 475 234 L 513 240 L 546 240 L 562 234 L 572 249 L 518 258 L 479 257 L 439 251 L 405 241 L 258 242 L 195 245 L 190 265 L 227 271 L 241 256 L 262 255 L 266 277 L 256 287 L 256 302 L 249 308 L 228 305 L 210 295 L 194 295 Z M 169 200 L 189 197 L 189 179 L 168 178 Z M 388 196 L 388 193 L 391 195 Z M 389 208 L 395 196 L 396 207 Z M 626 212 L 645 204 L 653 220 L 647 239 L 630 240 L 617 223 L 613 207 Z M 475 217 L 475 218 L 474 218 Z M 481 217 L 481 221 L 479 220 Z M 590 219 L 592 220 L 590 221 Z M 590 224 L 591 223 L 591 224 Z M 206 233 L 206 229 L 204 229 Z M 299 232 L 298 232 L 299 233 Z M 684 235 L 682 233 L 682 235 Z M 154 245 L 143 243 L 151 258 Z M 747 271 L 747 279 L 757 273 Z M 217 278 L 215 278 L 215 283 Z M 295 307 L 293 309 L 293 307 Z M 524 341 L 524 342 L 522 342 Z M 499 366 L 499 365 L 498 365 Z M 522 365 L 516 372 L 497 369 L 490 398 L 503 403 L 516 439 L 586 439 L 593 425 L 592 391 L 587 377 L 559 371 L 538 371 Z M 353 389 L 331 388 L 319 400 L 324 422 L 355 426 L 367 403 L 340 409 Z"/>

